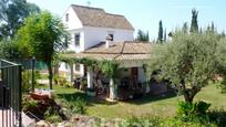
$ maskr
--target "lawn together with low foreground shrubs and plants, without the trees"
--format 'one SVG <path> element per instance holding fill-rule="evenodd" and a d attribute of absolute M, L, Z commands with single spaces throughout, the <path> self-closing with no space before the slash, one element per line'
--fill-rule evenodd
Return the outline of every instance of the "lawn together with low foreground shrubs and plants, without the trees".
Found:
<path fill-rule="evenodd" d="M 151 124 L 153 126 L 225 126 L 226 118 L 226 99 L 225 94 L 219 88 L 220 82 L 210 83 L 204 87 L 194 99 L 194 102 L 204 102 L 209 104 L 205 112 L 204 119 L 185 117 L 184 112 L 194 112 L 185 106 L 182 95 L 174 93 L 162 94 L 158 96 L 146 95 L 140 99 L 127 102 L 110 103 L 104 99 L 88 96 L 83 91 L 63 86 L 53 85 L 54 105 L 58 105 L 66 118 L 58 113 L 51 113 L 47 109 L 44 119 L 49 123 L 70 123 L 78 124 L 79 119 L 94 118 L 93 124 L 119 124 L 119 125 L 142 125 Z M 48 85 L 37 85 L 37 88 L 48 88 Z M 35 102 L 35 103 L 34 103 Z M 38 102 L 25 100 L 30 106 L 37 106 Z M 32 103 L 34 103 L 32 105 Z M 25 104 L 28 105 L 28 104 Z M 182 106 L 179 106 L 182 105 Z M 184 108 L 182 108 L 184 107 Z M 194 108 L 194 107 L 193 107 Z M 189 113 L 186 113 L 189 114 Z M 179 116 L 179 118 L 178 118 Z M 74 121 L 73 119 L 76 120 Z M 103 121 L 103 123 L 102 123 Z M 85 123 L 85 120 L 84 120 Z"/>

